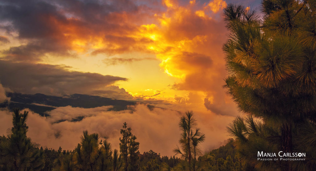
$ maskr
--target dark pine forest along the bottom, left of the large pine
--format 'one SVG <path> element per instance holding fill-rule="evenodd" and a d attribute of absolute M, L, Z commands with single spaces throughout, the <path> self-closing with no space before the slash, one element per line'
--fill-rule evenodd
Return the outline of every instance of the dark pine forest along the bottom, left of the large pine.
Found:
<path fill-rule="evenodd" d="M 200 139 L 198 142 L 202 142 L 205 135 L 200 133 L 200 130 L 196 127 L 192 112 L 186 112 L 180 118 L 180 123 L 185 121 L 181 125 L 186 128 L 185 130 L 189 130 L 191 135 L 190 149 L 193 156 L 191 164 L 189 164 L 186 157 L 180 159 L 175 156 L 161 156 L 152 150 L 140 154 L 136 136 L 131 133 L 131 128 L 128 128 L 126 123 L 123 124 L 123 129 L 121 129 L 120 150 L 112 150 L 110 143 L 100 139 L 97 133 L 90 134 L 88 131 L 83 131 L 81 141 L 74 150 L 39 148 L 26 136 L 28 129 L 26 125 L 27 115 L 27 112 L 22 114 L 20 110 L 14 110 L 13 127 L 10 134 L 0 137 L 0 170 L 168 171 L 194 169 L 224 171 L 241 170 L 244 167 L 237 160 L 233 139 L 230 139 L 225 146 L 203 156 L 200 152 L 197 152 L 198 143 L 195 142 L 194 144 L 194 141 Z M 188 124 L 187 121 L 191 123 Z M 189 125 L 191 126 L 188 127 Z M 185 148 L 182 150 L 185 150 Z"/>

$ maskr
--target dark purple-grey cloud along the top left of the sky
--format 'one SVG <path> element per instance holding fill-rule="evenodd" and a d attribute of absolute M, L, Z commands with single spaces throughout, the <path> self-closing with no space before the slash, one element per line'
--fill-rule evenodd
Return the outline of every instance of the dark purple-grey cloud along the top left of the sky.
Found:
<path fill-rule="evenodd" d="M 52 33 L 60 34 L 57 21 L 69 22 L 76 18 L 80 22 L 103 24 L 110 12 L 136 11 L 137 6 L 128 0 L 119 1 L 5 1 L 0 6 L 0 19 L 12 22 L 20 38 L 45 38 Z M 55 21 L 55 22 L 54 22 Z M 79 23 L 80 23 L 79 22 Z M 78 23 L 78 24 L 79 24 Z M 82 25 L 83 26 L 83 25 Z M 89 26 L 90 27 L 90 26 Z M 58 36 L 58 35 L 56 35 Z"/>

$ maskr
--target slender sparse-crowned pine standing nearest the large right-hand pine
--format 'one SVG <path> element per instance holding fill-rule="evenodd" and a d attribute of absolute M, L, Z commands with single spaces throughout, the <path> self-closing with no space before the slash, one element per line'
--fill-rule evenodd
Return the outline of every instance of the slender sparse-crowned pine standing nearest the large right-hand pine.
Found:
<path fill-rule="evenodd" d="M 199 154 L 198 144 L 204 141 L 205 135 L 200 132 L 199 128 L 197 128 L 197 123 L 193 117 L 192 111 L 185 112 L 185 115 L 180 118 L 179 128 L 181 130 L 179 139 L 180 147 L 177 145 L 173 152 L 188 160 L 189 170 L 191 170 L 191 160 L 193 155 L 193 169 L 195 169 L 196 156 Z"/>

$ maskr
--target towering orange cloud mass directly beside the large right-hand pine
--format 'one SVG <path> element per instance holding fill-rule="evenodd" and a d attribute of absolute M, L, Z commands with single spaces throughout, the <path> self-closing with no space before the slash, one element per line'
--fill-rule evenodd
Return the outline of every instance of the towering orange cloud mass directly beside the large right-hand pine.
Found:
<path fill-rule="evenodd" d="M 222 9 L 226 2 L 212 1 L 210 6 L 214 7 L 213 12 L 218 12 L 215 7 Z M 188 104 L 211 99 L 204 102 L 206 109 L 219 115 L 237 115 L 235 104 L 222 89 L 226 71 L 221 49 L 226 29 L 222 21 L 207 14 L 207 9 L 202 7 L 199 10 L 190 6 L 168 8 L 158 16 L 160 25 L 155 25 L 155 34 L 161 39 L 153 41 L 150 48 L 161 59 L 160 67 L 165 73 L 180 78 L 174 89 L 190 91 L 191 97 L 204 92 L 199 98 L 175 96 L 175 101 Z M 230 110 L 221 110 L 226 108 Z"/>

